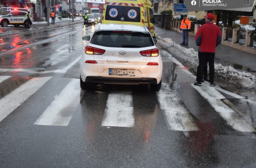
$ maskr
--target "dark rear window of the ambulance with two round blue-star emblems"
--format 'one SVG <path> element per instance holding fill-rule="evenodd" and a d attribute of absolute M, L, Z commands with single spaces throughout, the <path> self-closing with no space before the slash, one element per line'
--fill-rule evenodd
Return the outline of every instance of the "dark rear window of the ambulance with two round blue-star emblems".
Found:
<path fill-rule="evenodd" d="M 106 20 L 140 22 L 140 7 L 108 5 Z"/>

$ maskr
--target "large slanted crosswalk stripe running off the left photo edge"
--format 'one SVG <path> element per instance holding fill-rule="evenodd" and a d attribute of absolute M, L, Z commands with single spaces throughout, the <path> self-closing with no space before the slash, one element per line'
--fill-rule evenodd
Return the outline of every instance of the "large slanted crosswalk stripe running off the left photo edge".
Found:
<path fill-rule="evenodd" d="M 33 78 L 0 99 L 0 122 L 52 77 Z"/>

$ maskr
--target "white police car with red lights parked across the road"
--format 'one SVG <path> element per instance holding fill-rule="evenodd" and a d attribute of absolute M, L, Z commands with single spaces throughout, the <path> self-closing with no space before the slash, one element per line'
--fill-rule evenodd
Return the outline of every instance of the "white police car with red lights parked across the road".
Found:
<path fill-rule="evenodd" d="M 15 10 L 15 11 L 3 11 L 0 13 L 0 24 L 2 27 L 6 27 L 8 25 L 14 25 L 18 27 L 20 25 L 29 26 L 29 22 L 26 21 L 26 14 L 25 11 Z M 32 18 L 30 18 L 32 21 Z"/>

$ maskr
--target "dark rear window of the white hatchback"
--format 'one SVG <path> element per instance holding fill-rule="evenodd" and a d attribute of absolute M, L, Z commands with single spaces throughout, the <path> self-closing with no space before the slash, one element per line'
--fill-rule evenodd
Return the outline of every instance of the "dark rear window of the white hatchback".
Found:
<path fill-rule="evenodd" d="M 94 33 L 91 44 L 105 47 L 142 48 L 154 46 L 149 33 L 128 31 L 100 31 Z"/>

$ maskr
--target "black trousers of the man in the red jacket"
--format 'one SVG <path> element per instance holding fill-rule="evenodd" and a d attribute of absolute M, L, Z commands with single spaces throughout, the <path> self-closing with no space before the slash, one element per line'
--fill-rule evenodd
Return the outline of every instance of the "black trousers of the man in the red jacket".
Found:
<path fill-rule="evenodd" d="M 198 52 L 199 65 L 197 70 L 198 81 L 203 80 L 204 68 L 207 67 L 209 62 L 209 76 L 210 82 L 214 82 L 214 57 L 215 53 L 212 52 Z"/>

